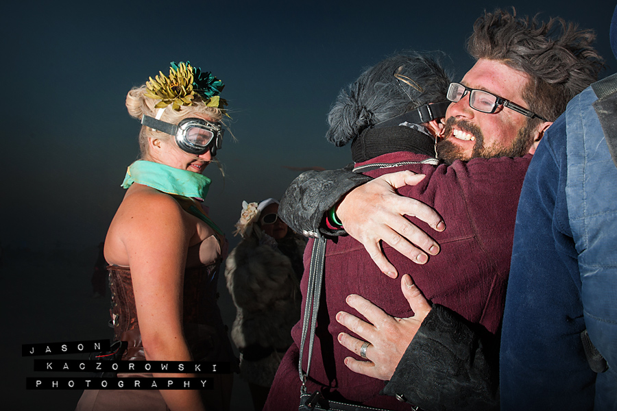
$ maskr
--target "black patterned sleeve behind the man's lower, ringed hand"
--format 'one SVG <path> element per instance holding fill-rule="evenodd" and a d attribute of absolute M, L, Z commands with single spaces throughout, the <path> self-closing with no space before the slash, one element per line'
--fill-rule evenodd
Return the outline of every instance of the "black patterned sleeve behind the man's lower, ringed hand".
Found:
<path fill-rule="evenodd" d="M 498 409 L 498 338 L 435 304 L 383 393 L 427 411 Z"/>

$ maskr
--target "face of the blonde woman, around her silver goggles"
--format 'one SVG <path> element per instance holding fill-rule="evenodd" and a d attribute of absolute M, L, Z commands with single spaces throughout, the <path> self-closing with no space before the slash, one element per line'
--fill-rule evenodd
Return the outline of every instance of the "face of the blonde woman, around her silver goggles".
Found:
<path fill-rule="evenodd" d="M 191 117 L 198 117 L 207 121 L 213 121 L 210 117 L 204 114 L 191 114 Z M 175 138 L 170 136 L 167 140 L 156 140 L 155 147 L 150 147 L 149 154 L 156 162 L 160 162 L 174 169 L 193 171 L 193 173 L 202 173 L 206 166 L 212 160 L 210 150 L 203 154 L 195 155 L 186 153 L 178 147 Z"/>

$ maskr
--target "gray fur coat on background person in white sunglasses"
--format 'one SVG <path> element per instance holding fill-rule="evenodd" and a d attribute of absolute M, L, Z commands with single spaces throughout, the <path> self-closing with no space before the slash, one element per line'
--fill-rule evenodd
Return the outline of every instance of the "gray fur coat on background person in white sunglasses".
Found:
<path fill-rule="evenodd" d="M 237 309 L 231 336 L 241 351 L 241 376 L 253 384 L 271 386 L 292 343 L 291 327 L 300 319 L 302 296 L 290 258 L 267 241 L 260 242 L 258 238 L 265 234 L 259 228 L 255 231 L 228 256 L 225 278 Z M 304 238 L 294 234 L 290 240 L 301 258 Z M 249 350 L 254 349 L 262 358 L 251 358 Z"/>

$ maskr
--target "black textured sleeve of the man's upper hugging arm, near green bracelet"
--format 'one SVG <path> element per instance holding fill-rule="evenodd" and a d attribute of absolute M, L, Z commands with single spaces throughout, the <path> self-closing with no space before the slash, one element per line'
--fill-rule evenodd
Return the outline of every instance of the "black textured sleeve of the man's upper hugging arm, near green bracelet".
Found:
<path fill-rule="evenodd" d="M 335 231 L 324 225 L 326 213 L 350 190 L 371 179 L 350 169 L 306 171 L 285 191 L 278 214 L 293 231 L 304 236 L 345 234 L 343 229 Z"/>

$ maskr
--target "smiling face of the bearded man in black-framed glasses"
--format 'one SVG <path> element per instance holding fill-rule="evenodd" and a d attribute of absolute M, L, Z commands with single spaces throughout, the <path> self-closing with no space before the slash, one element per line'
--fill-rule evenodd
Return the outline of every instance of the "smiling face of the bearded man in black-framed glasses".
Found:
<path fill-rule="evenodd" d="M 522 99 L 528 82 L 529 75 L 485 59 L 478 60 L 461 80 L 464 86 L 492 92 L 523 108 L 528 108 Z M 437 144 L 441 160 L 451 163 L 476 157 L 515 157 L 529 151 L 531 130 L 526 127 L 526 116 L 503 106 L 493 114 L 479 112 L 470 107 L 469 97 L 468 93 L 446 110 L 444 140 Z"/>

